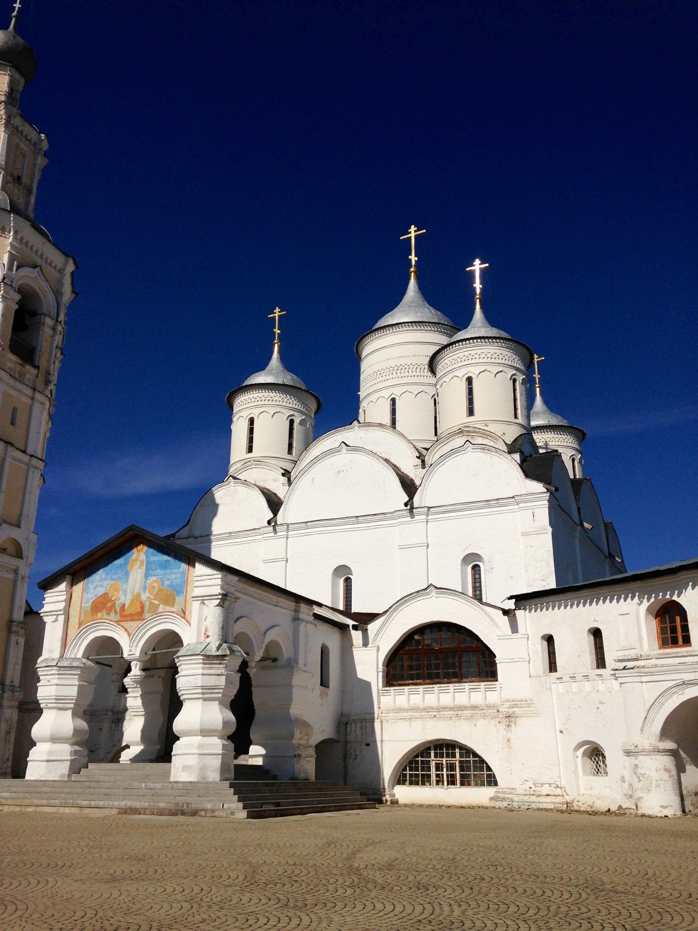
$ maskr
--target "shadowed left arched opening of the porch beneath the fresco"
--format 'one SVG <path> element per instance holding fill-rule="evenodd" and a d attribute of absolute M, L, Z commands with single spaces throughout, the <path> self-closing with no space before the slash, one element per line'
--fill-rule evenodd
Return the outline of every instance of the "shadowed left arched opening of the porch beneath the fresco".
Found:
<path fill-rule="evenodd" d="M 84 712 L 89 727 L 87 760 L 115 762 L 124 745 L 124 679 L 130 668 L 128 660 L 124 659 L 119 642 L 109 636 L 90 641 L 84 655 L 98 668 L 92 697 Z"/>

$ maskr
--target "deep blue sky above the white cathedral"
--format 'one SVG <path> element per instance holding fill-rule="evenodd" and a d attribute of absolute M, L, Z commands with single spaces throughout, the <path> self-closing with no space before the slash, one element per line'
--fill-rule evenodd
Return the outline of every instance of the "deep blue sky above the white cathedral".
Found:
<path fill-rule="evenodd" d="M 9 19 L 9 0 L 6 0 Z M 629 569 L 695 556 L 694 3 L 27 0 L 36 217 L 79 265 L 34 579 L 181 526 L 271 352 L 356 416 L 407 285 L 545 356 Z M 30 600 L 38 600 L 35 594 Z"/>

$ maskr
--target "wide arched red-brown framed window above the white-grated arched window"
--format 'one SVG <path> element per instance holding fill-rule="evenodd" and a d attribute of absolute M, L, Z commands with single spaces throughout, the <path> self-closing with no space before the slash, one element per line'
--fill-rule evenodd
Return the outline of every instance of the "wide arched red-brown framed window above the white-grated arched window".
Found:
<path fill-rule="evenodd" d="M 427 631 L 438 630 L 438 646 L 425 646 L 424 639 Z M 443 640 L 442 631 L 455 631 L 456 642 L 454 645 L 441 646 Z M 408 646 L 407 644 L 420 638 L 419 646 Z M 433 635 L 432 635 L 433 638 Z M 468 642 L 472 641 L 472 642 Z M 447 678 L 427 678 L 426 656 L 435 654 L 457 654 L 458 656 L 458 674 L 451 679 Z M 477 676 L 463 675 L 463 654 L 476 656 Z M 422 678 L 421 679 L 399 679 L 394 672 L 394 663 L 398 656 L 422 656 Z M 405 675 L 407 676 L 407 659 L 404 663 Z M 493 669 L 494 674 L 488 674 Z M 484 673 L 484 674 L 483 674 Z M 450 682 L 495 682 L 497 681 L 497 657 L 492 653 L 490 647 L 477 639 L 472 630 L 467 627 L 459 627 L 457 624 L 427 624 L 417 630 L 412 630 L 407 637 L 396 647 L 396 650 L 390 655 L 386 666 L 386 685 L 435 685 L 436 683 Z"/>

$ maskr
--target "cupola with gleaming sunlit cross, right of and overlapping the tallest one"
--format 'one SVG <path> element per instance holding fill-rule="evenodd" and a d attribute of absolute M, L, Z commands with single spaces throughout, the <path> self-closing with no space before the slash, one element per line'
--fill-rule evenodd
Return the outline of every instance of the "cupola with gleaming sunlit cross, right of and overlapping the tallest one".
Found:
<path fill-rule="evenodd" d="M 475 272 L 475 312 L 470 324 L 451 336 L 431 358 L 436 375 L 438 433 L 477 425 L 513 442 L 528 433 L 530 348 L 492 327 L 482 310 L 479 259 Z"/>

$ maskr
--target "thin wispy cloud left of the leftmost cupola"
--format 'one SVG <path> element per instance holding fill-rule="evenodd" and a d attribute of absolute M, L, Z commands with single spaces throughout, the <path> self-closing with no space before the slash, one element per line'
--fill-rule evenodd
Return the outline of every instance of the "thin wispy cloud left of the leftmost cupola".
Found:
<path fill-rule="evenodd" d="M 221 438 L 181 439 L 157 452 L 91 456 L 74 466 L 54 466 L 51 480 L 63 491 L 91 498 L 126 498 L 181 492 L 225 478 Z"/>

